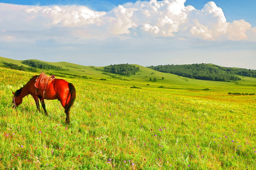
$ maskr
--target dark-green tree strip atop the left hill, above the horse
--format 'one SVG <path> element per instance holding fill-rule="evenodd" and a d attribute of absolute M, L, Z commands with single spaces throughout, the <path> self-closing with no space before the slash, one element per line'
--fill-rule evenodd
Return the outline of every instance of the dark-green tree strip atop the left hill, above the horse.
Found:
<path fill-rule="evenodd" d="M 40 62 L 40 61 L 23 60 L 21 63 L 26 64 L 31 67 L 34 67 L 34 68 L 62 70 L 61 66 L 53 66 L 51 64 L 47 64 L 47 63 Z"/>

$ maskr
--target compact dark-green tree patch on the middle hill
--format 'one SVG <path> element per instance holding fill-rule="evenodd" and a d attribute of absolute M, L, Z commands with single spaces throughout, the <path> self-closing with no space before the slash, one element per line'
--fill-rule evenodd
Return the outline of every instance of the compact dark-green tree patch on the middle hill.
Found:
<path fill-rule="evenodd" d="M 124 76 L 130 76 L 135 75 L 139 71 L 139 67 L 130 64 L 111 64 L 110 66 L 104 67 L 102 71 Z"/>

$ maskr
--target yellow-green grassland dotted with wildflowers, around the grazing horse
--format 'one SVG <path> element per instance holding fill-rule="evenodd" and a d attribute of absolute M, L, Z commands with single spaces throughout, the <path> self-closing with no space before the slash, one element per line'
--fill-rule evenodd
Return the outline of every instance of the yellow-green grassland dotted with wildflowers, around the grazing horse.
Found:
<path fill-rule="evenodd" d="M 69 125 L 58 100 L 45 101 L 48 117 L 30 95 L 12 109 L 11 92 L 36 73 L 0 67 L 0 169 L 256 169 L 256 95 L 228 94 L 255 93 L 256 78 L 203 81 L 141 66 L 114 78 L 72 67 L 91 78 L 64 78 L 77 90 Z"/>

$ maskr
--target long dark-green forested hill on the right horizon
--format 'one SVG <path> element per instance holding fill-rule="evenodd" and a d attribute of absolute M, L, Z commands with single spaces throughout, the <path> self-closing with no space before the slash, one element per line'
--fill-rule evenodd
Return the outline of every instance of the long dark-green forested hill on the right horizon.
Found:
<path fill-rule="evenodd" d="M 159 65 L 148 68 L 188 78 L 212 81 L 237 81 L 239 76 L 256 77 L 256 70 L 245 68 L 227 68 L 214 64 Z M 237 76 L 239 75 L 239 76 Z"/>

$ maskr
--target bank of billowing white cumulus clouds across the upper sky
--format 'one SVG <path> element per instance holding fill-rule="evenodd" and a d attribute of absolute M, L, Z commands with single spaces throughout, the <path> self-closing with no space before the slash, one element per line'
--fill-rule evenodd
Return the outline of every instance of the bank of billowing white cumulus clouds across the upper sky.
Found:
<path fill-rule="evenodd" d="M 15 31 L 41 31 L 44 35 L 53 36 L 62 30 L 65 35 L 59 36 L 71 39 L 125 35 L 256 41 L 250 38 L 256 36 L 255 28 L 244 20 L 227 22 L 222 8 L 213 1 L 205 4 L 201 10 L 185 6 L 185 1 L 137 1 L 119 5 L 110 12 L 75 5 L 24 6 L 0 3 L 0 34 L 1 39 L 8 40 L 15 39 L 12 34 Z"/>

